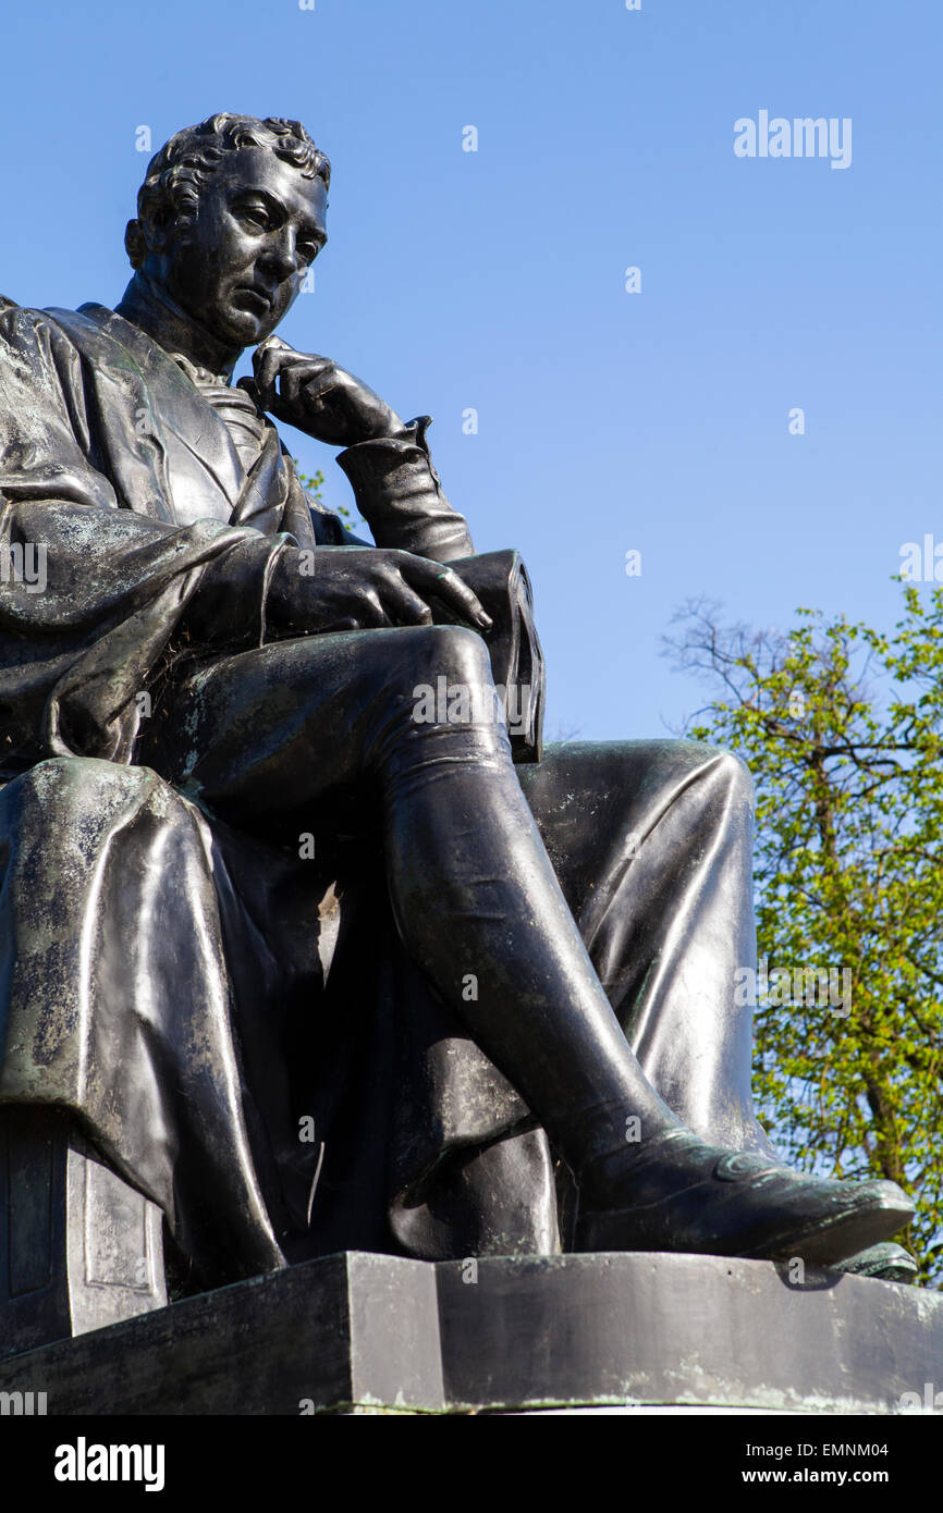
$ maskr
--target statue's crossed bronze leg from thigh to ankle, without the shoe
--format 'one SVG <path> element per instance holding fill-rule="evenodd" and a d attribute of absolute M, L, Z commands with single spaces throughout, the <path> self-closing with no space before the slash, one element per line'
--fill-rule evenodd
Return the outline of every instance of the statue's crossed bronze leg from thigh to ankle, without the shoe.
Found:
<path fill-rule="evenodd" d="M 416 720 L 416 690 L 442 676 L 471 690 L 468 717 Z M 630 1112 L 649 1135 L 677 1121 L 592 968 L 490 687 L 484 642 L 460 628 L 286 640 L 191 675 L 139 760 L 221 819 L 268 834 L 375 811 L 412 959 L 581 1170 L 625 1145 Z"/>

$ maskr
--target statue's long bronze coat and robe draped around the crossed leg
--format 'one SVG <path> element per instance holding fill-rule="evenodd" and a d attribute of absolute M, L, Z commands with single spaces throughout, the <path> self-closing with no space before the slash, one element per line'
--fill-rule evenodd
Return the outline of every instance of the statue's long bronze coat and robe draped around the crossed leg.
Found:
<path fill-rule="evenodd" d="M 101 306 L 3 303 L 0 445 L 0 1101 L 71 1111 L 203 1285 L 339 1248 L 557 1250 L 546 1136 L 406 955 L 380 837 L 303 858 L 135 761 L 206 584 L 204 652 L 263 645 L 272 555 L 342 545 L 338 517 L 271 424 L 247 477 L 182 365 Z M 339 460 L 378 546 L 471 551 L 424 422 Z M 684 1008 L 751 959 L 743 770 L 654 741 L 519 773 L 643 1065 L 755 1144 L 749 1015 Z"/>

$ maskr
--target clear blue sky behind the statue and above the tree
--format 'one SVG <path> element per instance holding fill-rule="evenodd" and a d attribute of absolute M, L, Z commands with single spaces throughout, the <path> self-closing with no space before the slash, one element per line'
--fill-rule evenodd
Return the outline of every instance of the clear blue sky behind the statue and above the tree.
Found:
<path fill-rule="evenodd" d="M 943 539 L 940 0 L 11 0 L 3 32 L 20 304 L 120 298 L 139 126 L 306 123 L 330 242 L 282 334 L 434 416 L 478 549 L 531 570 L 551 735 L 702 702 L 658 657 L 683 599 L 889 625 L 901 543 Z M 736 157 L 760 110 L 851 118 L 851 166 Z"/>

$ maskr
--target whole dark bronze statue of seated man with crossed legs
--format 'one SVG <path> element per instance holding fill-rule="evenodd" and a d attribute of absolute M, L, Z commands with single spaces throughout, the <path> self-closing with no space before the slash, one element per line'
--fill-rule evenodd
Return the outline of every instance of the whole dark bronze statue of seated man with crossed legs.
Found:
<path fill-rule="evenodd" d="M 272 337 L 328 180 L 298 123 L 215 115 L 150 163 L 114 310 L 0 301 L 0 1120 L 80 1132 L 182 1291 L 889 1239 L 895 1183 L 787 1170 L 754 1117 L 745 767 L 515 763 L 519 563 L 489 599 L 428 418 Z M 269 416 L 344 448 L 372 545 Z"/>

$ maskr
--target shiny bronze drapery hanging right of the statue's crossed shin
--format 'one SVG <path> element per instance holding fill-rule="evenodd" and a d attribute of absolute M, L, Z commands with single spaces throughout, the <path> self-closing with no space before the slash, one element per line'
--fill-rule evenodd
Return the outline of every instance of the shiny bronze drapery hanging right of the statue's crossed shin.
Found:
<path fill-rule="evenodd" d="M 699 741 L 549 746 L 518 778 L 639 1064 L 689 1129 L 770 1153 L 751 1094 L 752 779 Z"/>

